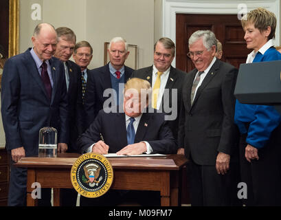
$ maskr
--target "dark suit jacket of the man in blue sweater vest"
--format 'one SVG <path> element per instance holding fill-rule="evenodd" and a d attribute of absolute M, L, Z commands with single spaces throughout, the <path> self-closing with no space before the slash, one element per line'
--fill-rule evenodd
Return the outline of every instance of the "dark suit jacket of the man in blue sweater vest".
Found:
<path fill-rule="evenodd" d="M 133 69 L 125 66 L 125 83 L 130 78 Z M 111 73 L 109 72 L 109 63 L 97 69 L 88 72 L 87 87 L 85 93 L 84 107 L 86 111 L 87 127 L 93 122 L 95 116 L 108 97 L 104 97 L 104 90 L 112 88 Z"/>

